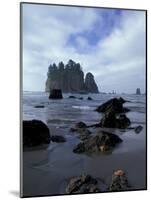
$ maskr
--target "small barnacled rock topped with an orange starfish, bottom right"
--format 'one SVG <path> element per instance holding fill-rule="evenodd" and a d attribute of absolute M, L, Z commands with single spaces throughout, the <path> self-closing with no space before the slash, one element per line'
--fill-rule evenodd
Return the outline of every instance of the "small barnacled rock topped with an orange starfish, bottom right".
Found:
<path fill-rule="evenodd" d="M 112 175 L 110 191 L 125 191 L 130 188 L 127 177 L 123 170 L 114 171 Z"/>

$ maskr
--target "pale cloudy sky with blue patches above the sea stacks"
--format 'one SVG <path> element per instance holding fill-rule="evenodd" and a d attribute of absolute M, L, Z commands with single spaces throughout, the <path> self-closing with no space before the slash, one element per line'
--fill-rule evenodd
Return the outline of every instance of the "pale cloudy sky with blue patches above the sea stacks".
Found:
<path fill-rule="evenodd" d="M 23 89 L 44 91 L 48 66 L 79 62 L 100 91 L 145 90 L 145 12 L 23 4 Z"/>

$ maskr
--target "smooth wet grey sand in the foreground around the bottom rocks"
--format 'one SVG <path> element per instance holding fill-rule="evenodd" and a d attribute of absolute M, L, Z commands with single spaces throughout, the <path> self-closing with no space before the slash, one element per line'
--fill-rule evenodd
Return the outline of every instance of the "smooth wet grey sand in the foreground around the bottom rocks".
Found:
<path fill-rule="evenodd" d="M 125 137 L 124 134 L 120 137 Z M 126 134 L 140 137 L 133 131 Z M 140 134 L 144 134 L 144 131 Z M 100 188 L 103 192 L 110 184 L 113 171 L 117 169 L 126 172 L 131 190 L 146 189 L 146 152 L 144 148 L 138 148 L 139 140 L 131 140 L 131 144 L 129 140 L 124 141 L 113 152 L 85 155 L 72 152 L 79 140 L 76 134 L 69 134 L 65 143 L 51 143 L 46 150 L 25 151 L 24 196 L 65 194 L 69 179 L 83 173 L 101 180 Z"/>

